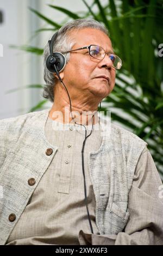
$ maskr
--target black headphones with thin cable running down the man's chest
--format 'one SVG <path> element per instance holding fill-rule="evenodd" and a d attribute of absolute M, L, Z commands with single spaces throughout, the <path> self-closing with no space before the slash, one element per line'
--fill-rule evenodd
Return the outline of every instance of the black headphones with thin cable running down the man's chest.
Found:
<path fill-rule="evenodd" d="M 60 82 L 65 87 L 65 89 L 67 91 L 67 94 L 68 94 L 68 97 L 69 97 L 69 100 L 70 100 L 70 113 L 72 115 L 70 95 L 68 93 L 68 90 L 67 90 L 64 82 L 62 81 L 62 79 L 59 75 L 59 72 L 61 72 L 65 68 L 66 58 L 61 52 L 53 52 L 53 45 L 54 45 L 55 40 L 57 39 L 57 36 L 58 36 L 58 32 L 55 33 L 52 36 L 52 39 L 48 41 L 50 55 L 46 59 L 46 67 L 49 70 L 49 72 L 57 74 Z M 101 108 L 101 102 L 100 102 L 100 108 Z M 93 114 L 92 119 L 93 119 L 94 115 L 95 114 Z M 73 116 L 72 116 L 72 119 L 74 119 Z M 100 120 L 100 117 L 99 117 L 99 120 Z M 76 121 L 74 121 L 74 123 L 76 123 Z M 78 124 L 78 123 L 76 123 L 76 124 Z M 84 126 L 83 124 L 78 124 L 78 125 Z M 83 177 L 84 177 L 84 194 L 85 194 L 85 205 L 86 205 L 86 210 L 87 210 L 87 217 L 88 217 L 88 220 L 89 220 L 91 233 L 93 234 L 93 228 L 92 228 L 92 224 L 91 224 L 90 213 L 89 213 L 89 209 L 88 209 L 88 205 L 87 205 L 86 182 L 85 182 L 85 171 L 84 171 L 84 147 L 85 147 L 86 139 L 87 139 L 87 137 L 89 137 L 91 135 L 92 130 L 91 130 L 90 134 L 86 136 L 86 127 L 84 126 L 84 128 L 85 128 L 85 139 L 84 139 L 83 147 L 82 147 L 82 170 L 83 170 Z M 93 122 L 92 122 L 92 129 L 93 129 Z"/>

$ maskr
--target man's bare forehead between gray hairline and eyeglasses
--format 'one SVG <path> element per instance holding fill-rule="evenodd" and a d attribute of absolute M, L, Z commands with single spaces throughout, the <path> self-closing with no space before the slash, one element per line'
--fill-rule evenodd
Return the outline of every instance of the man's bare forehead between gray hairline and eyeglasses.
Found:
<path fill-rule="evenodd" d="M 105 51 L 112 50 L 111 40 L 103 31 L 96 28 L 73 29 L 68 33 L 68 38 L 73 41 L 73 47 L 83 47 L 88 45 L 99 45 Z"/>

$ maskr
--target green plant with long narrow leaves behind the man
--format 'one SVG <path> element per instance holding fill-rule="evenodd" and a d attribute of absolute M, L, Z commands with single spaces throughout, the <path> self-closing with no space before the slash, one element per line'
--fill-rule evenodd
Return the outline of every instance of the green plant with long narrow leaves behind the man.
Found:
<path fill-rule="evenodd" d="M 66 21 L 92 17 L 109 29 L 114 50 L 123 65 L 117 71 L 113 92 L 103 100 L 102 110 L 111 109 L 113 121 L 147 141 L 159 173 L 163 175 L 163 57 L 157 53 L 163 42 L 162 1 L 108 0 L 104 5 L 102 1 L 92 0 L 91 6 L 85 0 L 80 1 L 87 7 L 85 13 L 75 14 L 55 5 L 49 8 L 65 13 Z M 61 27 L 37 10 L 30 10 L 50 25 L 36 33 Z M 40 55 L 43 51 L 31 46 L 23 46 L 22 50 Z M 42 107 L 45 102 L 37 103 L 33 109 Z"/>

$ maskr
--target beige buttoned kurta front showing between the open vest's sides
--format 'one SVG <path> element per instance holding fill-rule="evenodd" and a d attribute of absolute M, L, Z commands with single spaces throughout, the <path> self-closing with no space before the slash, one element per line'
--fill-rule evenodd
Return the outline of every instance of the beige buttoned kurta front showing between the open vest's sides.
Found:
<path fill-rule="evenodd" d="M 82 146 L 85 129 L 47 119 L 45 134 L 58 150 L 26 209 L 12 230 L 8 245 L 79 245 L 79 230 L 90 233 L 84 201 Z M 91 126 L 87 127 L 87 135 Z M 99 149 L 102 136 L 99 124 L 93 126 L 84 148 L 87 201 L 94 234 L 96 226 L 95 195 L 89 174 L 89 153 Z M 83 128 L 83 129 L 82 129 Z"/>

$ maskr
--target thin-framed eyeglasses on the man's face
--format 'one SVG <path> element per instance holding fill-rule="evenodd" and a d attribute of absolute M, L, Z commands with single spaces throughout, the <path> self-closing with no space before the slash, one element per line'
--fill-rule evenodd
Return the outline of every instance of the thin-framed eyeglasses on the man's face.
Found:
<path fill-rule="evenodd" d="M 98 45 L 89 45 L 89 46 L 77 48 L 75 50 L 62 52 L 62 53 L 64 54 L 64 53 L 78 51 L 78 50 L 82 50 L 82 49 L 88 49 L 90 56 L 95 58 L 95 59 L 99 59 L 99 60 L 104 59 L 105 54 L 108 55 L 109 58 L 112 61 L 112 66 L 115 69 L 121 69 L 122 60 L 117 55 L 115 55 L 114 53 L 105 52 L 105 50 L 101 46 L 98 46 Z"/>

